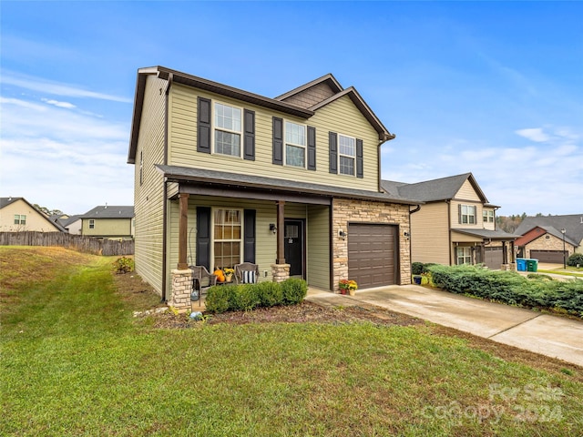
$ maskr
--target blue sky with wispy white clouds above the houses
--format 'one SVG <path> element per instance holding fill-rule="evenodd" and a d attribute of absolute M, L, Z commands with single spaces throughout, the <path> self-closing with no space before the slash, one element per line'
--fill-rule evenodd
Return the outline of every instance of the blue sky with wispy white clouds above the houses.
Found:
<path fill-rule="evenodd" d="M 582 2 L 7 2 L 0 196 L 133 203 L 139 67 L 276 97 L 332 73 L 396 139 L 383 178 L 473 172 L 499 215 L 583 212 Z"/>

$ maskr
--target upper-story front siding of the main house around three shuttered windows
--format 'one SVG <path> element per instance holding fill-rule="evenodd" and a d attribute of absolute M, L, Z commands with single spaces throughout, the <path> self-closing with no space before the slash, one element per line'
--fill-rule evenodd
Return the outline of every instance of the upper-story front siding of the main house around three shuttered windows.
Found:
<path fill-rule="evenodd" d="M 197 97 L 210 98 L 233 107 L 255 111 L 255 160 L 199 153 L 197 146 Z M 252 176 L 269 176 L 301 180 L 337 187 L 378 190 L 378 134 L 354 107 L 350 97 L 342 97 L 319 109 L 309 118 L 291 117 L 264 107 L 217 96 L 198 89 L 174 84 L 169 96 L 169 165 L 190 168 L 214 168 Z M 214 107 L 214 105 L 213 105 Z M 273 165 L 272 117 L 316 128 L 315 171 L 291 166 Z M 364 178 L 329 173 L 328 132 L 363 139 Z"/>

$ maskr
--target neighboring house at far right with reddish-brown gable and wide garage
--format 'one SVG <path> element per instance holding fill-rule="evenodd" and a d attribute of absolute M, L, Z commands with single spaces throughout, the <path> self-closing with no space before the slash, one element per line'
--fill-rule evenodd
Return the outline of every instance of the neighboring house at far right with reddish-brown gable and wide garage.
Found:
<path fill-rule="evenodd" d="M 583 214 L 527 217 L 515 233 L 521 236 L 515 243 L 520 258 L 562 264 L 573 253 L 583 253 Z"/>

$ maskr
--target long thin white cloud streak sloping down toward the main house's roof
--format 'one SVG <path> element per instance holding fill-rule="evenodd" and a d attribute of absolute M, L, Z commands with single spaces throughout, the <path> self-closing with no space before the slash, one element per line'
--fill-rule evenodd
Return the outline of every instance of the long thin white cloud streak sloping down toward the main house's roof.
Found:
<path fill-rule="evenodd" d="M 61 97 L 96 98 L 99 100 L 132 103 L 132 100 L 126 97 L 97 93 L 95 91 L 83 89 L 77 85 L 62 84 L 44 79 L 42 77 L 27 76 L 6 70 L 2 71 L 2 82 L 5 85 L 18 86 L 20 88 L 28 89 L 31 91 L 42 92 L 45 94 L 52 94 Z"/>

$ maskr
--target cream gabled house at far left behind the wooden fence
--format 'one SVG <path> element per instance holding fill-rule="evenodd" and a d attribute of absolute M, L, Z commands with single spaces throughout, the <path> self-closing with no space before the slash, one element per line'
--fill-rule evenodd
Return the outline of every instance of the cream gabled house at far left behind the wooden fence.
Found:
<path fill-rule="evenodd" d="M 62 232 L 58 223 L 33 207 L 26 198 L 0 198 L 0 231 Z"/>

